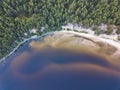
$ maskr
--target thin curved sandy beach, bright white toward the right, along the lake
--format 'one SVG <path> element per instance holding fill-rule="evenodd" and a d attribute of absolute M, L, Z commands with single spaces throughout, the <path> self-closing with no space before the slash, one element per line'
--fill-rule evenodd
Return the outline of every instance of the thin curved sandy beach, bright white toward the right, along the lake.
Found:
<path fill-rule="evenodd" d="M 104 43 L 108 43 L 114 47 L 117 48 L 117 51 L 116 53 L 114 53 L 114 56 L 116 55 L 120 55 L 120 43 L 117 42 L 117 41 L 113 41 L 113 40 L 110 40 L 110 39 L 105 39 L 105 38 L 101 38 L 99 36 L 95 36 L 95 35 L 91 35 L 91 34 L 85 34 L 85 33 L 79 33 L 79 32 L 74 32 L 74 31 L 66 31 L 66 30 L 62 30 L 62 31 L 55 31 L 55 32 L 48 32 L 46 34 L 43 34 L 41 36 L 31 36 L 30 38 L 28 39 L 24 39 L 18 46 L 16 46 L 16 48 L 13 49 L 13 51 L 11 51 L 8 55 L 6 55 L 5 57 L 3 57 L 2 59 L 0 59 L 0 62 L 4 62 L 6 58 L 8 58 L 10 55 L 12 55 L 19 47 L 21 44 L 25 43 L 26 41 L 29 41 L 31 39 L 37 39 L 37 38 L 41 38 L 43 36 L 46 36 L 46 35 L 49 35 L 49 34 L 55 34 L 57 32 L 61 32 L 61 33 L 73 33 L 73 34 L 77 34 L 77 35 L 80 35 L 81 37 L 83 38 L 89 38 L 89 39 L 92 39 L 94 41 L 101 41 L 101 42 L 104 42 Z"/>

